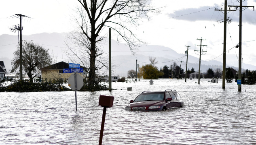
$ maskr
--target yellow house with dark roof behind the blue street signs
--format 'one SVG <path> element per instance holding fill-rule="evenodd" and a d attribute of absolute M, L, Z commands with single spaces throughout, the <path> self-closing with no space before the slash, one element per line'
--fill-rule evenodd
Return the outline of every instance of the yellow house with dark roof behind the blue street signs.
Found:
<path fill-rule="evenodd" d="M 70 77 L 70 75 L 72 75 L 72 73 L 63 73 L 63 68 L 69 68 L 68 63 L 66 62 L 58 62 L 49 66 L 46 66 L 44 68 L 41 68 L 41 77 L 42 79 L 47 79 L 48 81 L 51 79 L 55 79 L 55 80 L 62 80 L 64 81 L 65 79 L 68 80 L 68 78 Z M 83 78 L 85 78 L 86 73 L 85 73 L 85 67 L 80 66 L 80 68 L 83 68 L 84 73 L 78 73 L 80 74 Z"/>

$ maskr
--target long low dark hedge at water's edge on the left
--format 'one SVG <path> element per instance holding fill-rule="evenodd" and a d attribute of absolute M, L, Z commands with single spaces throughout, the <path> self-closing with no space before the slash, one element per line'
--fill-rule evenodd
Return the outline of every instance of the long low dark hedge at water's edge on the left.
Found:
<path fill-rule="evenodd" d="M 63 86 L 63 83 L 47 81 L 44 83 L 32 83 L 29 80 L 14 80 L 8 86 L 0 85 L 0 92 L 38 92 L 38 91 L 71 91 L 70 88 Z"/>

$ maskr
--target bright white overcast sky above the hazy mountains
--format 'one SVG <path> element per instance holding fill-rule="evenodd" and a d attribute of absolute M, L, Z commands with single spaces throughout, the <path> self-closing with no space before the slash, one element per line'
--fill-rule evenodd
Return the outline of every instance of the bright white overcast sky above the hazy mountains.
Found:
<path fill-rule="evenodd" d="M 228 5 L 239 5 L 237 0 L 227 0 Z M 155 7 L 163 7 L 160 14 L 151 14 L 151 20 L 142 19 L 137 27 L 131 27 L 135 34 L 149 45 L 169 47 L 178 53 L 184 53 L 185 45 L 192 46 L 190 55 L 198 57 L 193 50 L 199 50 L 195 44 L 200 44 L 201 37 L 206 39 L 207 54 L 203 60 L 211 60 L 223 52 L 224 14 L 215 8 L 224 9 L 224 0 L 152 0 Z M 23 18 L 23 35 L 35 33 L 62 33 L 74 30 L 74 9 L 79 5 L 77 0 L 5 0 L 0 4 L 0 35 L 17 35 L 9 30 L 19 24 L 14 14 L 24 14 L 30 18 Z M 245 0 L 243 5 L 256 6 L 256 0 Z M 211 9 L 209 9 L 211 8 Z M 199 12 L 201 11 L 201 12 Z M 192 13 L 192 14 L 190 14 Z M 183 15 L 183 16 L 182 16 Z M 228 24 L 227 50 L 239 43 L 239 11 L 231 11 L 228 17 L 232 22 Z M 107 33 L 107 29 L 101 35 Z M 256 61 L 256 11 L 248 8 L 243 11 L 243 62 L 255 65 Z M 231 36 L 231 37 L 230 37 Z M 114 38 L 114 37 L 113 37 Z M 1 46 L 1 44 L 0 44 Z M 238 55 L 238 48 L 228 54 Z M 0 54 L 0 58 L 3 57 Z M 215 60 L 222 62 L 222 56 Z M 229 59 L 229 58 L 227 58 Z M 231 59 L 231 58 L 230 58 Z"/>

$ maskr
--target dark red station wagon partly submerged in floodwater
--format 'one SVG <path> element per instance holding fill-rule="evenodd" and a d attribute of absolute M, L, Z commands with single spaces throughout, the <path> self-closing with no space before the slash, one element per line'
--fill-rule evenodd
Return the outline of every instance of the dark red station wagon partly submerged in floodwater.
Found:
<path fill-rule="evenodd" d="M 167 110 L 172 107 L 182 107 L 184 104 L 180 94 L 176 90 L 144 91 L 125 110 Z"/>

